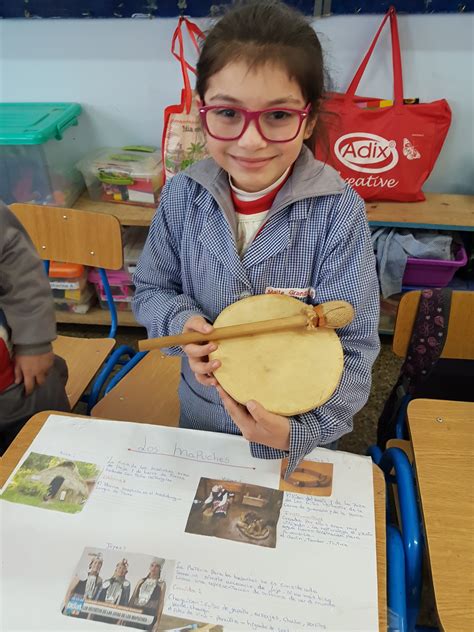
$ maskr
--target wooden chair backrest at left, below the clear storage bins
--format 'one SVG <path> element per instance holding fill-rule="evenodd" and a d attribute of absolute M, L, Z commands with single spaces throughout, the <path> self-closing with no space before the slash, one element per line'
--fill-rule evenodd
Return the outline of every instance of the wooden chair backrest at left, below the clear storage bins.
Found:
<path fill-rule="evenodd" d="M 113 215 L 38 204 L 11 204 L 40 257 L 109 270 L 123 266 L 122 232 Z"/>

